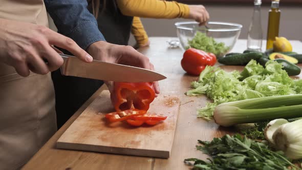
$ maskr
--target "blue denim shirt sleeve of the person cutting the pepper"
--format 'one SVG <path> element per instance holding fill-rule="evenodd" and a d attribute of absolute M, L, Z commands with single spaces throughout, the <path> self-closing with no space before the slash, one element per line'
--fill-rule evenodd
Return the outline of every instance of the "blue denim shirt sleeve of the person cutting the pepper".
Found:
<path fill-rule="evenodd" d="M 105 40 L 86 0 L 44 0 L 58 32 L 72 38 L 86 50 L 93 42 Z"/>

